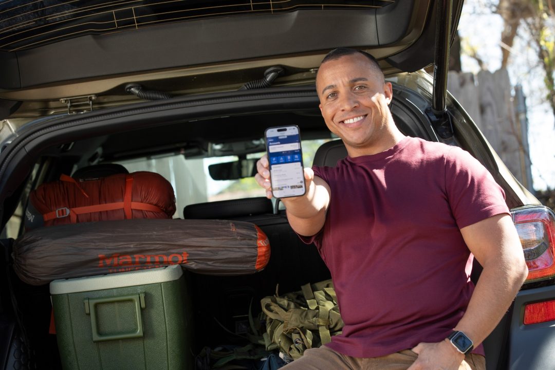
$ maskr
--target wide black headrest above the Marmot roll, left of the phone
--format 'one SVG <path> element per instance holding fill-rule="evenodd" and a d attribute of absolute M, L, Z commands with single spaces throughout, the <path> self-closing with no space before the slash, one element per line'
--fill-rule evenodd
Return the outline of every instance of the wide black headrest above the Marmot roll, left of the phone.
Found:
<path fill-rule="evenodd" d="M 266 197 L 220 200 L 189 204 L 183 209 L 184 219 L 233 219 L 235 217 L 272 214 L 272 201 Z"/>

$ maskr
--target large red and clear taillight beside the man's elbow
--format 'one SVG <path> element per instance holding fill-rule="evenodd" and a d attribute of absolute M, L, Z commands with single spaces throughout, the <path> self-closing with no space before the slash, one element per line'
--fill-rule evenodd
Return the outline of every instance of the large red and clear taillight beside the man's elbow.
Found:
<path fill-rule="evenodd" d="M 543 206 L 513 210 L 528 265 L 526 282 L 555 277 L 555 214 Z"/>

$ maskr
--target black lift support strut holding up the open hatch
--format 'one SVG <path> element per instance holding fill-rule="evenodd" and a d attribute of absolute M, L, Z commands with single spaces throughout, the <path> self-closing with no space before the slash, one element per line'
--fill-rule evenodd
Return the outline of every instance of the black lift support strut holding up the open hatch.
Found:
<path fill-rule="evenodd" d="M 447 72 L 449 68 L 449 49 L 451 43 L 451 14 L 453 0 L 437 1 L 436 44 L 433 57 L 433 95 L 432 107 L 426 109 L 428 118 L 442 139 L 453 136 L 451 115 L 446 109 Z"/>

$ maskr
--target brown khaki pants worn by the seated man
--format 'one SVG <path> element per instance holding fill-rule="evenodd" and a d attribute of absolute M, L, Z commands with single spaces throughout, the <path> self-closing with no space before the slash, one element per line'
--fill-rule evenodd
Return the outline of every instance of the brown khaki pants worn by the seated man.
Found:
<path fill-rule="evenodd" d="M 326 346 L 307 349 L 301 358 L 283 367 L 286 370 L 406 370 L 418 355 L 410 349 L 387 356 L 356 358 L 337 353 Z M 459 370 L 486 370 L 486 359 L 468 353 Z"/>

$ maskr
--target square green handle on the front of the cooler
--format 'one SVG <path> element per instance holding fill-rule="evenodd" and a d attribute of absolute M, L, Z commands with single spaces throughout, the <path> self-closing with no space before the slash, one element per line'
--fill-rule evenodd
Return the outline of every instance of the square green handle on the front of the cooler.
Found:
<path fill-rule="evenodd" d="M 135 315 L 137 317 L 137 331 L 127 332 L 127 333 L 117 333 L 117 334 L 101 334 L 98 332 L 98 322 L 97 322 L 97 305 L 102 303 L 115 303 L 132 301 L 135 303 Z M 93 342 L 103 342 L 103 341 L 115 341 L 118 339 L 129 339 L 129 338 L 140 338 L 143 336 L 143 319 L 140 315 L 141 308 L 145 308 L 144 293 L 127 295 L 127 296 L 116 296 L 116 297 L 104 297 L 104 298 L 86 298 L 85 301 L 85 313 L 90 315 L 90 327 L 93 331 Z"/>

